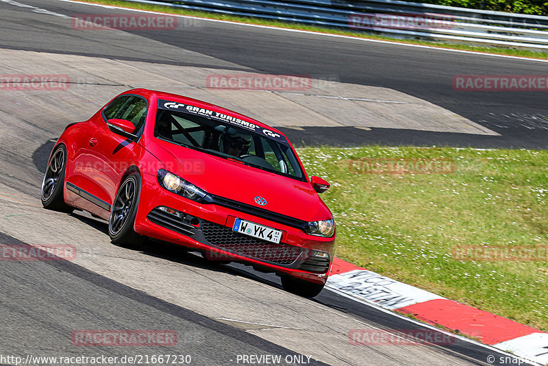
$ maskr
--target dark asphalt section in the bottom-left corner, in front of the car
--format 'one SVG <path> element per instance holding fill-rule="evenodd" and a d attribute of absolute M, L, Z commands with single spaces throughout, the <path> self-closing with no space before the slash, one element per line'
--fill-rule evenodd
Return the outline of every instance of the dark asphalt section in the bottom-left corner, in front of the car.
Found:
<path fill-rule="evenodd" d="M 0 232 L 0 243 L 23 245 Z M 243 330 L 132 289 L 64 260 L 3 262 L 0 354 L 77 356 L 67 335 L 75 329 L 171 330 L 175 345 L 81 347 L 86 356 L 190 355 L 192 365 L 236 363 L 238 354 L 295 354 Z M 24 288 L 25 291 L 21 291 Z M 9 296 L 6 296 L 8 295 Z M 36 299 L 42 306 L 36 308 Z M 70 351 L 69 351 L 70 350 Z M 52 352 L 53 351 L 53 352 Z M 232 362 L 229 362 L 232 361 Z M 325 365 L 311 360 L 311 365 Z"/>

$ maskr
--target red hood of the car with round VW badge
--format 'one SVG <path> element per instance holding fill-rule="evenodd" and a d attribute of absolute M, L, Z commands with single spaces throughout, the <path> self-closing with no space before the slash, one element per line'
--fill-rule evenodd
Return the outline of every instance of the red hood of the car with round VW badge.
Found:
<path fill-rule="evenodd" d="M 213 195 L 304 221 L 332 218 L 309 182 L 158 139 L 148 144 L 147 150 L 160 159 L 168 171 Z M 266 199 L 266 205 L 257 204 L 255 197 Z"/>

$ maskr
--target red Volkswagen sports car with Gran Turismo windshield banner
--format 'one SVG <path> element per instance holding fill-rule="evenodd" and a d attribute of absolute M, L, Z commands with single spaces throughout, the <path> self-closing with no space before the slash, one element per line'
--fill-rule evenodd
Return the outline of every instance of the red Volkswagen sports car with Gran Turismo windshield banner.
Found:
<path fill-rule="evenodd" d="M 115 97 L 67 126 L 42 183 L 45 208 L 108 220 L 113 243 L 146 237 L 277 273 L 317 295 L 335 224 L 286 136 L 213 104 L 146 89 Z"/>

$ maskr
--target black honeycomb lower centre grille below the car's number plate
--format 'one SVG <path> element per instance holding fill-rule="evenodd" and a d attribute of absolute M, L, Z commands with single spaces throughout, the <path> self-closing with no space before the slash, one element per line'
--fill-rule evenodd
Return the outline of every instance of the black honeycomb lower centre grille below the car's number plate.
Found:
<path fill-rule="evenodd" d="M 294 245 L 270 243 L 206 220 L 202 220 L 201 230 L 206 240 L 214 247 L 278 265 L 290 265 L 299 258 L 302 251 Z"/>

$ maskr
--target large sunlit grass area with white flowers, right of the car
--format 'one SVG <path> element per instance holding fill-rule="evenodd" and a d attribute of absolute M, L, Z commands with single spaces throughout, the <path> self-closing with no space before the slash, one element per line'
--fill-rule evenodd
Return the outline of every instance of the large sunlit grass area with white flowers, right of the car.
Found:
<path fill-rule="evenodd" d="M 337 255 L 464 304 L 548 330 L 548 263 L 464 261 L 456 245 L 548 244 L 548 151 L 299 149 L 337 223 Z M 351 173 L 359 158 L 450 159 L 453 173 Z M 353 171 L 356 171 L 354 165 Z"/>

